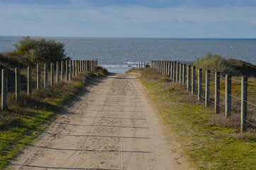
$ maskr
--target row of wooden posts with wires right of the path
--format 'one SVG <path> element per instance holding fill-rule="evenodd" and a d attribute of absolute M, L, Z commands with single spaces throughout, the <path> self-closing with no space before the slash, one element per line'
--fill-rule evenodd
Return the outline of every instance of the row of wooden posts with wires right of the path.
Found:
<path fill-rule="evenodd" d="M 225 112 L 226 118 L 231 118 L 234 115 L 240 118 L 240 130 L 242 132 L 247 131 L 248 124 L 256 128 L 256 121 L 253 122 L 248 120 L 248 105 L 256 107 L 254 103 L 248 101 L 248 84 L 250 86 L 256 86 L 248 82 L 248 77 L 241 77 L 241 80 L 232 79 L 231 74 L 226 74 L 225 77 L 221 76 L 220 72 L 211 74 L 210 70 L 202 72 L 201 68 L 192 66 L 191 62 L 181 61 L 151 61 L 150 67 L 158 70 L 161 74 L 170 77 L 170 79 L 179 83 L 180 85 L 187 86 L 187 91 L 191 91 L 192 95 L 197 95 L 198 101 L 204 100 L 205 107 L 208 107 L 210 103 L 214 104 L 215 113 L 220 113 L 220 108 Z M 197 74 L 196 74 L 197 70 Z M 204 74 L 204 77 L 203 77 Z M 196 79 L 197 77 L 197 79 Z M 210 86 L 211 77 L 214 77 L 214 87 Z M 203 79 L 204 78 L 204 79 Z M 220 79 L 225 80 L 225 92 L 220 90 Z M 203 83 L 204 80 L 204 83 Z M 232 81 L 239 81 L 241 84 L 241 93 L 239 96 L 233 96 L 231 94 Z M 197 90 L 196 90 L 197 86 Z M 204 86 L 204 95 L 202 93 Z M 210 90 L 214 90 L 214 100 L 210 98 Z M 225 95 L 225 105 L 220 104 L 220 93 Z M 233 98 L 240 101 L 240 115 L 234 113 L 232 109 Z M 255 111 L 255 110 L 254 110 Z"/>

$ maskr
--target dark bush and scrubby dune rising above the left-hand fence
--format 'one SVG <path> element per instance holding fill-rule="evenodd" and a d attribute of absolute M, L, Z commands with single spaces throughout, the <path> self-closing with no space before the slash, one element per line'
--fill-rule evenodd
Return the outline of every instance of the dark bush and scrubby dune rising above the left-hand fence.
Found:
<path fill-rule="evenodd" d="M 28 65 L 69 59 L 64 51 L 64 43 L 54 40 L 31 39 L 27 36 L 14 46 L 16 50 L 12 52 L 0 52 L 1 69 L 15 67 L 21 69 Z"/>

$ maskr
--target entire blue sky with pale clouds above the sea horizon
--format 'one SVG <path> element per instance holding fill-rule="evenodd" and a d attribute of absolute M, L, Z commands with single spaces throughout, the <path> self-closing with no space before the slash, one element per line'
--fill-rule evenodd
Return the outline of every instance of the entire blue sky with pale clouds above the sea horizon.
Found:
<path fill-rule="evenodd" d="M 0 35 L 256 38 L 256 0 L 0 0 Z"/>

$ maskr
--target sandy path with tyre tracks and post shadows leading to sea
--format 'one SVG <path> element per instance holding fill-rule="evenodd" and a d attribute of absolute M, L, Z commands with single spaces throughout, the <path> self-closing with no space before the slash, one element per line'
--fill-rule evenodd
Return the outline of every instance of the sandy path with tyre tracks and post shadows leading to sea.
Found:
<path fill-rule="evenodd" d="M 8 169 L 176 169 L 137 78 L 95 80 Z"/>

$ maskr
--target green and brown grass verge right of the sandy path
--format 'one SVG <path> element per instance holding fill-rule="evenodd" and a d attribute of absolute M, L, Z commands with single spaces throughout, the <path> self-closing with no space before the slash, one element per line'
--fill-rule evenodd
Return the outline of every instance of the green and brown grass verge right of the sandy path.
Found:
<path fill-rule="evenodd" d="M 255 131 L 219 125 L 222 115 L 197 102 L 185 87 L 166 81 L 155 69 L 141 70 L 141 81 L 161 115 L 167 135 L 182 145 L 196 169 L 256 169 Z"/>

